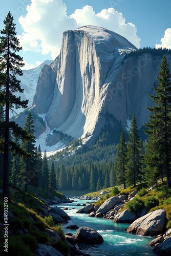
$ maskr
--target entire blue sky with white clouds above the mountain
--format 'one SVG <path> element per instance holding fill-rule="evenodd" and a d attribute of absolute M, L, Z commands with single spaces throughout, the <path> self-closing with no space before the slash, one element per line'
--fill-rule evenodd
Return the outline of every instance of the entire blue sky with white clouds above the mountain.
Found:
<path fill-rule="evenodd" d="M 9 11 L 23 47 L 24 69 L 54 59 L 62 33 L 83 25 L 115 31 L 138 48 L 171 48 L 170 0 L 1 0 L 1 30 Z"/>

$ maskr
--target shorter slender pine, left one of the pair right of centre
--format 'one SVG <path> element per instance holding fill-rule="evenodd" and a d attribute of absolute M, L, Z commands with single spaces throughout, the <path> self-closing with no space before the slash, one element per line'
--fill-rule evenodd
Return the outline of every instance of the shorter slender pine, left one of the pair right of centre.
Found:
<path fill-rule="evenodd" d="M 116 184 L 123 184 L 123 188 L 126 188 L 125 184 L 125 169 L 126 169 L 126 152 L 127 146 L 125 143 L 125 136 L 123 131 L 120 135 L 120 140 L 118 144 L 118 151 L 116 155 Z"/>

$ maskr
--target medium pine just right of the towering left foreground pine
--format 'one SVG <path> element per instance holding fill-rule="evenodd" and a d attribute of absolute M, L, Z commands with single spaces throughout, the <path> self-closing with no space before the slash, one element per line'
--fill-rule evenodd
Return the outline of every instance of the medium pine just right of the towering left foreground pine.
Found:
<path fill-rule="evenodd" d="M 22 177 L 25 184 L 25 191 L 28 191 L 28 184 L 38 187 L 38 173 L 36 165 L 36 148 L 35 148 L 35 137 L 34 137 L 34 121 L 31 112 L 26 119 L 24 130 L 32 137 L 30 140 L 22 143 L 23 148 L 30 154 L 29 158 L 23 158 L 21 160 L 20 176 Z"/>

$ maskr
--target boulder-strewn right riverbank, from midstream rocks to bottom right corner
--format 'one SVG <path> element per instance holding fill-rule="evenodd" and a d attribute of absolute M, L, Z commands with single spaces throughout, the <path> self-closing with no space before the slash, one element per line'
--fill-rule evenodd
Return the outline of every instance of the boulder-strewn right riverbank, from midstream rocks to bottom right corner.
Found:
<path fill-rule="evenodd" d="M 101 206 L 90 203 L 77 210 L 78 214 L 89 214 L 90 217 L 112 219 L 118 223 L 130 223 L 127 232 L 140 236 L 151 236 L 154 240 L 149 245 L 154 246 L 157 255 L 170 255 L 171 229 L 166 229 L 166 212 L 157 209 L 149 212 L 143 206 L 139 211 L 124 209 L 125 203 L 132 201 L 137 195 L 137 190 L 130 196 L 120 195 L 107 199 Z M 122 209 L 122 210 L 121 210 Z"/>

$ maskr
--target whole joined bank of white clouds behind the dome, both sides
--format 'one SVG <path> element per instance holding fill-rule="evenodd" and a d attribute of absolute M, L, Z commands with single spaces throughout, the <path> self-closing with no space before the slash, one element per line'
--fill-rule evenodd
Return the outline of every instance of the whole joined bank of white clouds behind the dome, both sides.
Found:
<path fill-rule="evenodd" d="M 76 9 L 67 15 L 67 6 L 62 0 L 32 0 L 26 16 L 19 17 L 23 34 L 18 36 L 24 51 L 50 53 L 54 59 L 60 52 L 62 34 L 66 30 L 84 25 L 100 26 L 112 30 L 132 42 L 137 48 L 140 38 L 132 23 L 125 23 L 122 13 L 114 8 L 95 13 L 92 6 Z"/>

